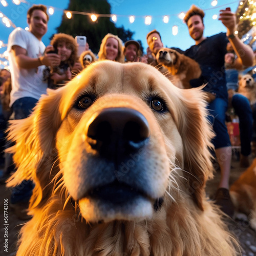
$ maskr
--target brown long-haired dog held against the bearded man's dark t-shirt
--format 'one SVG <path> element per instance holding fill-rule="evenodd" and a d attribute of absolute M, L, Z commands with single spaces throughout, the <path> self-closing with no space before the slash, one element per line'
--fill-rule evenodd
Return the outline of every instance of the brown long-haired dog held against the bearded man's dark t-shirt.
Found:
<path fill-rule="evenodd" d="M 195 60 L 169 48 L 161 48 L 156 56 L 157 62 L 173 75 L 172 81 L 181 89 L 190 88 L 189 81 L 199 78 L 201 69 Z"/>

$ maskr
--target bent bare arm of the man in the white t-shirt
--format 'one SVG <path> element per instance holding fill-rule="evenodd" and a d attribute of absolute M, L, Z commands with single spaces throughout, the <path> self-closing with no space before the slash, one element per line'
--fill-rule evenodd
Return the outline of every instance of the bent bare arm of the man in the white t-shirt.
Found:
<path fill-rule="evenodd" d="M 13 46 L 12 53 L 15 56 L 15 60 L 19 68 L 34 69 L 41 65 L 45 66 L 58 66 L 60 63 L 60 57 L 57 54 L 51 53 L 41 56 L 39 58 L 31 58 L 27 56 L 27 51 L 20 46 Z"/>

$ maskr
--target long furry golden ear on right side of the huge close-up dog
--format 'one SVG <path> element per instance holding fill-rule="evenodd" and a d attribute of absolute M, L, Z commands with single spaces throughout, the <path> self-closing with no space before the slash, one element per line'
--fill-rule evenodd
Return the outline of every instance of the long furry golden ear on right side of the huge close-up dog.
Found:
<path fill-rule="evenodd" d="M 203 210 L 204 187 L 212 177 L 213 165 L 210 149 L 214 137 L 207 119 L 206 101 L 200 89 L 181 90 L 181 106 L 178 110 L 178 129 L 183 141 L 185 177 L 188 180 L 187 193 Z"/>

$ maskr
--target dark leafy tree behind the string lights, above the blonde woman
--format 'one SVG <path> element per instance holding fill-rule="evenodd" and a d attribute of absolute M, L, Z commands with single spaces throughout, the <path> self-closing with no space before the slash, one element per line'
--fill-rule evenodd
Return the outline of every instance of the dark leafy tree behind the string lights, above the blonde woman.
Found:
<path fill-rule="evenodd" d="M 111 14 L 111 6 L 106 0 L 72 0 L 70 1 L 68 10 L 79 11 L 95 14 Z M 96 22 L 91 20 L 90 16 L 73 14 L 68 19 L 66 14 L 62 15 L 62 22 L 57 28 L 58 33 L 66 33 L 72 36 L 85 35 L 90 45 L 90 49 L 94 53 L 98 53 L 101 40 L 103 37 L 112 33 L 117 35 L 123 41 L 132 39 L 133 32 L 125 30 L 123 27 L 116 28 L 109 17 L 98 17 Z"/>

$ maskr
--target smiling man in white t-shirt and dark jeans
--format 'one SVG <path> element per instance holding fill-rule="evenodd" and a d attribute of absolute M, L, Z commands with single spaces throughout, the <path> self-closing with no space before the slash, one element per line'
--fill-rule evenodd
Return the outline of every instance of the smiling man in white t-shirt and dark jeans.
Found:
<path fill-rule="evenodd" d="M 45 66 L 53 67 L 60 63 L 59 55 L 44 54 L 46 47 L 41 38 L 47 31 L 48 20 L 46 6 L 33 5 L 27 13 L 29 30 L 16 28 L 8 39 L 12 79 L 10 107 L 15 119 L 28 117 L 40 96 L 46 93 L 47 83 L 42 75 Z M 26 209 L 33 187 L 31 181 L 23 181 L 12 191 L 11 205 L 20 219 L 29 217 Z"/>

